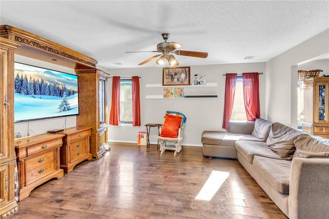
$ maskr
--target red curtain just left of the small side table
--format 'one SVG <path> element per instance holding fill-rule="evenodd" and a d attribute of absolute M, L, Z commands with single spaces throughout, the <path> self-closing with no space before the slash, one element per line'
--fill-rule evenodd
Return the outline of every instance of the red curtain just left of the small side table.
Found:
<path fill-rule="evenodd" d="M 139 78 L 132 77 L 133 90 L 133 126 L 140 126 Z"/>

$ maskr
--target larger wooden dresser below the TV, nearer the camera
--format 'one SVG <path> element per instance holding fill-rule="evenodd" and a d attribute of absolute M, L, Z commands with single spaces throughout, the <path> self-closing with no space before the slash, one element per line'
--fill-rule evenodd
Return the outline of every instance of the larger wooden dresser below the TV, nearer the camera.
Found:
<path fill-rule="evenodd" d="M 28 197 L 35 187 L 51 178 L 61 178 L 64 175 L 64 171 L 60 169 L 63 137 L 60 134 L 43 134 L 15 140 L 19 201 Z"/>

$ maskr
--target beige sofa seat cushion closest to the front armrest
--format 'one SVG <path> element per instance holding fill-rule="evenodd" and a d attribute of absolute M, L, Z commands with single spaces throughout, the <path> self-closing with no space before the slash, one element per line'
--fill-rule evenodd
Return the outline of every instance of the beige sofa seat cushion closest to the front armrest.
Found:
<path fill-rule="evenodd" d="M 277 192 L 289 194 L 290 160 L 254 156 L 252 165 Z"/>

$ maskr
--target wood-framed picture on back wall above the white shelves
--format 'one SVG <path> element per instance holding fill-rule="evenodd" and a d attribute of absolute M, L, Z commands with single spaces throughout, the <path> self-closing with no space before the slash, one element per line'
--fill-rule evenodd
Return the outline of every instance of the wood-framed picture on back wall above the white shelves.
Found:
<path fill-rule="evenodd" d="M 162 86 L 190 85 L 190 67 L 162 69 Z"/>

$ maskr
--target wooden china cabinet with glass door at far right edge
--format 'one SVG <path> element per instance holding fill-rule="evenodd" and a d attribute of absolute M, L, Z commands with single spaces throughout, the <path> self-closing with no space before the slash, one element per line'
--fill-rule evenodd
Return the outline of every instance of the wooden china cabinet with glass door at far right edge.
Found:
<path fill-rule="evenodd" d="M 304 80 L 304 132 L 329 139 L 329 78 Z"/>

